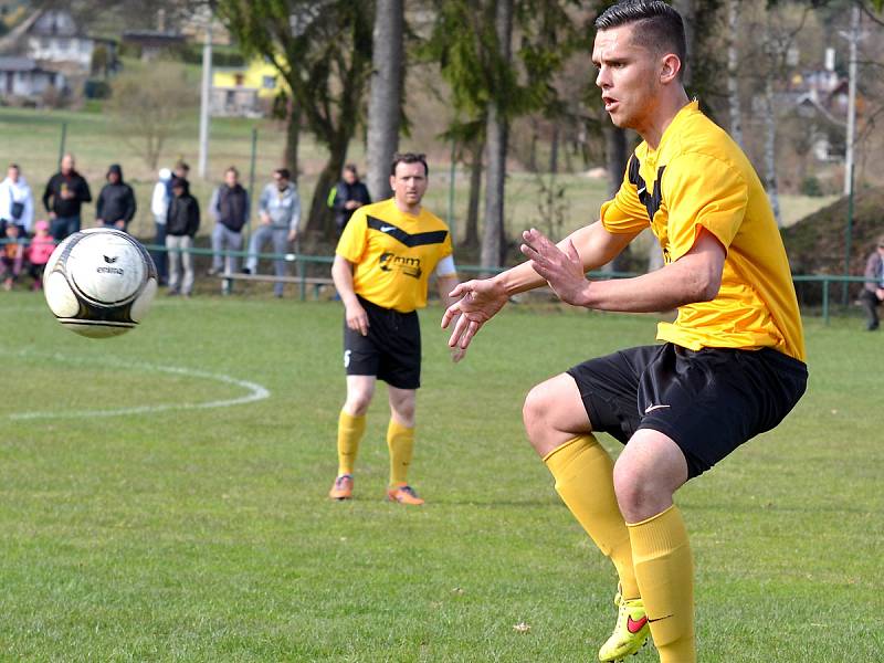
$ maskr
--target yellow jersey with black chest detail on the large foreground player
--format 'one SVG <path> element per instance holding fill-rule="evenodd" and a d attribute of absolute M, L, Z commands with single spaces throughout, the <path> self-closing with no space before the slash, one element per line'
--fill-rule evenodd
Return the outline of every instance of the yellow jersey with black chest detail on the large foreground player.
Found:
<path fill-rule="evenodd" d="M 791 271 L 765 189 L 697 102 L 678 112 L 655 150 L 644 141 L 635 148 L 601 220 L 613 233 L 650 223 L 666 263 L 693 248 L 701 228 L 727 251 L 718 295 L 681 306 L 675 323 L 660 324 L 660 340 L 693 350 L 772 347 L 804 360 Z"/>

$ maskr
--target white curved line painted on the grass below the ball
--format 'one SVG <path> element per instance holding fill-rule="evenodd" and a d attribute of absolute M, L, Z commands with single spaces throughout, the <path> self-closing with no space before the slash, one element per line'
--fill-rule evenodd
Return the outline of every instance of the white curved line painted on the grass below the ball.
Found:
<path fill-rule="evenodd" d="M 225 385 L 233 385 L 245 389 L 248 393 L 238 398 L 204 401 L 197 403 L 160 403 L 156 406 L 139 406 L 135 408 L 117 408 L 112 410 L 46 410 L 46 411 L 32 411 L 32 412 L 15 412 L 9 414 L 8 419 L 23 420 L 23 419 L 86 419 L 93 417 L 122 417 L 124 414 L 152 414 L 156 412 L 166 412 L 169 410 L 207 410 L 211 408 L 227 408 L 230 406 L 242 406 L 269 398 L 271 392 L 265 387 L 256 382 L 248 380 L 239 380 L 231 376 L 223 373 L 212 373 L 204 370 L 196 370 L 183 368 L 181 366 L 160 366 L 156 364 L 145 362 L 130 362 L 130 361 L 114 361 L 109 359 L 84 359 L 78 357 L 70 357 L 62 354 L 42 354 L 31 352 L 28 350 L 14 352 L 21 357 L 27 356 L 43 356 L 52 361 L 64 361 L 67 364 L 82 364 L 82 365 L 106 365 L 117 368 L 125 368 L 127 370 L 144 370 L 154 372 L 164 372 L 177 376 L 186 376 L 189 378 L 199 378 L 203 380 L 214 380 L 217 382 L 224 382 Z"/>

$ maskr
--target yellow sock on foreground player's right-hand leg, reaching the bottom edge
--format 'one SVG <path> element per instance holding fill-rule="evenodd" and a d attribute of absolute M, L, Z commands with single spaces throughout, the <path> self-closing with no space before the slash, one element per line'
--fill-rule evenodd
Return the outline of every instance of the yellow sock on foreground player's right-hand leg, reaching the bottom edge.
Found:
<path fill-rule="evenodd" d="M 694 565 L 675 506 L 629 525 L 635 576 L 661 663 L 695 663 Z"/>

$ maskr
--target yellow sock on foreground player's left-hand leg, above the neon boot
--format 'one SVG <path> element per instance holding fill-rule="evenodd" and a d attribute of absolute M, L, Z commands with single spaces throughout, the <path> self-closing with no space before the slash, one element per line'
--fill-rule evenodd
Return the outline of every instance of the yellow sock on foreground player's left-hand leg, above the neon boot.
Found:
<path fill-rule="evenodd" d="M 580 435 L 548 453 L 546 466 L 556 478 L 556 491 L 577 522 L 620 576 L 624 599 L 638 599 L 629 530 L 614 495 L 613 462 L 592 435 Z"/>

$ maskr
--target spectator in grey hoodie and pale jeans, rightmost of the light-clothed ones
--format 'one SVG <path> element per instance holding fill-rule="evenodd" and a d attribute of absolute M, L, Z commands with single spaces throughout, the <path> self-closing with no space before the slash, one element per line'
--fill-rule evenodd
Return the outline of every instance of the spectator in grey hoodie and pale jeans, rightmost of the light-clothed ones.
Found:
<path fill-rule="evenodd" d="M 257 215 L 261 223 L 249 240 L 249 260 L 243 270 L 246 274 L 257 273 L 257 254 L 269 240 L 272 240 L 273 253 L 277 255 L 283 255 L 287 251 L 288 242 L 297 240 L 301 198 L 286 168 L 273 171 L 273 181 L 264 187 L 261 193 Z M 274 260 L 273 266 L 276 276 L 285 276 L 284 259 Z M 282 281 L 273 285 L 273 294 L 277 297 L 283 296 Z"/>

